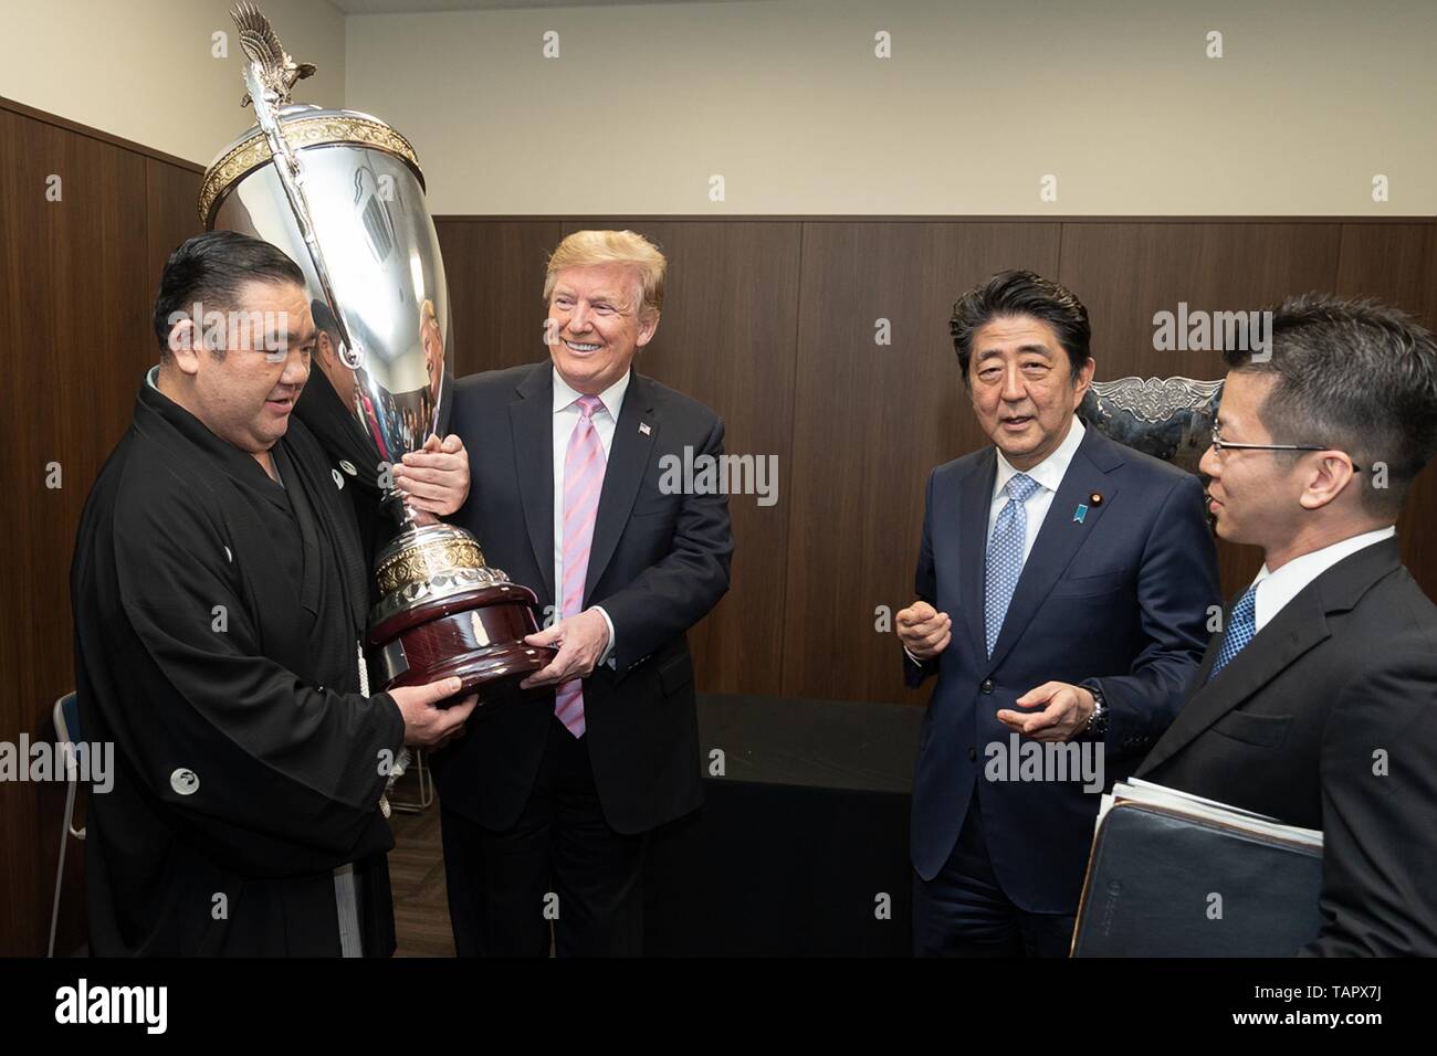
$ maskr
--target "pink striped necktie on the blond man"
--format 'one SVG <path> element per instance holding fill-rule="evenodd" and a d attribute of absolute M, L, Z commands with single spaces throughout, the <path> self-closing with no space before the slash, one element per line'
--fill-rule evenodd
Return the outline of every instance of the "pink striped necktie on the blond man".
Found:
<path fill-rule="evenodd" d="M 569 450 L 563 457 L 563 583 L 560 586 L 559 616 L 579 615 L 583 605 L 583 580 L 589 572 L 589 543 L 593 542 L 593 520 L 599 511 L 604 490 L 604 444 L 593 428 L 593 412 L 604 409 L 598 397 L 579 397 L 579 422 L 569 434 Z M 553 713 L 575 737 L 583 730 L 583 680 L 572 678 L 559 685 L 553 697 Z"/>

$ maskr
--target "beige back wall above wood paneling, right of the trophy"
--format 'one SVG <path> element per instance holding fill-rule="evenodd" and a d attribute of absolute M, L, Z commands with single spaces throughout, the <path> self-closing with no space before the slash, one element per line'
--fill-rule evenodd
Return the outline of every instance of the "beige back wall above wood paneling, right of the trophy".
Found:
<path fill-rule="evenodd" d="M 348 105 L 415 142 L 437 213 L 1437 214 L 1433 0 L 752 0 L 346 39 Z"/>

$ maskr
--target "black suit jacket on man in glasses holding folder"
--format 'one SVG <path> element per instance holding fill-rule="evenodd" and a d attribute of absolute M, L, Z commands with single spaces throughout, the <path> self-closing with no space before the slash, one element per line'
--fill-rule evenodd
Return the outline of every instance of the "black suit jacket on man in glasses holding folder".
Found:
<path fill-rule="evenodd" d="M 1209 682 L 1220 638 L 1138 776 L 1322 829 L 1303 954 L 1437 955 L 1437 606 L 1397 540 L 1312 580 Z"/>

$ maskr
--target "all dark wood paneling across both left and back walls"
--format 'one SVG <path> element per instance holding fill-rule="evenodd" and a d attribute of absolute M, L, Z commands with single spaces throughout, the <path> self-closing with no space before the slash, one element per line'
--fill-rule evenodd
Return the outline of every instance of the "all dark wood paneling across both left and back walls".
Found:
<path fill-rule="evenodd" d="M 53 740 L 50 705 L 73 687 L 75 530 L 154 362 L 155 286 L 165 256 L 198 231 L 198 181 L 178 158 L 0 99 L 0 371 L 11 394 L 0 740 Z M 664 247 L 668 302 L 639 369 L 716 408 L 730 453 L 777 457 L 777 504 L 733 499 L 733 589 L 693 634 L 710 693 L 921 701 L 900 685 L 877 611 L 911 598 L 928 470 L 984 443 L 947 319 L 989 273 L 1025 266 L 1068 283 L 1091 310 L 1102 378 L 1219 376 L 1216 356 L 1151 351 L 1152 313 L 1180 300 L 1232 309 L 1334 289 L 1437 328 L 1428 220 L 450 217 L 438 230 L 460 374 L 545 355 L 545 256 L 581 227 L 632 227 Z M 879 320 L 891 343 L 875 343 Z M 1428 593 L 1434 520 L 1428 470 L 1401 524 Z M 1256 563 L 1223 547 L 1224 586 Z M 0 955 L 45 950 L 63 800 L 59 784 L 0 782 Z M 83 937 L 76 851 L 62 950 Z"/>

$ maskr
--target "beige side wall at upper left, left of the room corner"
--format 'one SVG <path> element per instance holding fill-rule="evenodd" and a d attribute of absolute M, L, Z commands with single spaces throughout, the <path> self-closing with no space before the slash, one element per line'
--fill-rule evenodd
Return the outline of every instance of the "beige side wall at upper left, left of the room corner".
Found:
<path fill-rule="evenodd" d="M 343 103 L 345 19 L 328 0 L 257 0 L 295 59 L 318 73 L 296 102 Z M 0 95 L 210 164 L 254 124 L 240 109 L 233 0 L 0 0 Z M 228 34 L 228 57 L 211 34 Z"/>

